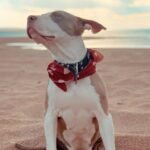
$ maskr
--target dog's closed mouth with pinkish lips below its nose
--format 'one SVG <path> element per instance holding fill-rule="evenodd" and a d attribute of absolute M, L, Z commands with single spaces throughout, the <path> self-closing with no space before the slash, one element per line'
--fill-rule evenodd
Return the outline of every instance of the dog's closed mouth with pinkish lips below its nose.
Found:
<path fill-rule="evenodd" d="M 27 35 L 30 39 L 37 39 L 37 38 L 43 38 L 46 40 L 55 39 L 55 36 L 53 36 L 53 35 L 50 35 L 50 36 L 42 35 L 41 33 L 39 33 L 38 31 L 36 31 L 35 29 L 33 29 L 31 27 L 27 28 Z"/>

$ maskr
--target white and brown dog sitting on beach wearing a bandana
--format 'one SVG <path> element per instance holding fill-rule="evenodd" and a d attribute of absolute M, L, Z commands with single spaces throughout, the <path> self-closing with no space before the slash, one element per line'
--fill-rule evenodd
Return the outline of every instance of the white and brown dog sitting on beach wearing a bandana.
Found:
<path fill-rule="evenodd" d="M 49 64 L 45 102 L 44 131 L 46 149 L 56 150 L 57 139 L 68 150 L 92 150 L 101 137 L 105 150 L 115 150 L 112 116 L 102 78 L 96 63 L 103 56 L 87 49 L 81 37 L 106 28 L 100 23 L 54 11 L 29 16 L 27 33 L 43 44 L 53 56 Z"/>

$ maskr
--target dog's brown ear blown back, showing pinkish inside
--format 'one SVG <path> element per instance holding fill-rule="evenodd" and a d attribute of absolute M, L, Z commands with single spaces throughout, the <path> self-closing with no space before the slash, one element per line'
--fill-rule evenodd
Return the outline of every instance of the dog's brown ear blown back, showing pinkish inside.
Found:
<path fill-rule="evenodd" d="M 82 25 L 85 30 L 91 30 L 93 33 L 98 33 L 101 30 L 106 30 L 106 28 L 103 25 L 96 21 L 86 20 L 82 18 L 80 18 L 80 21 L 82 22 Z"/>

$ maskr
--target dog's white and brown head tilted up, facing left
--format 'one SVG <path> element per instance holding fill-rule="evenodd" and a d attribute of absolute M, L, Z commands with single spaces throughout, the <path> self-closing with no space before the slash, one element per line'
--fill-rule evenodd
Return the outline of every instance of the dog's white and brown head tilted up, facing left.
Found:
<path fill-rule="evenodd" d="M 28 36 L 38 43 L 81 36 L 86 29 L 97 33 L 106 28 L 98 22 L 82 19 L 64 11 L 29 16 L 27 23 Z"/>

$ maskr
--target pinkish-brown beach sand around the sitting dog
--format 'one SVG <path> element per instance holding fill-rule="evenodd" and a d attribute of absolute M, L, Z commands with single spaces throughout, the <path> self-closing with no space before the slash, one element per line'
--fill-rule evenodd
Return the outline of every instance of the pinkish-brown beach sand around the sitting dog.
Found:
<path fill-rule="evenodd" d="M 16 142 L 44 146 L 43 117 L 48 51 L 23 50 L 0 39 L 0 150 Z M 150 49 L 101 49 L 117 150 L 150 150 Z"/>

